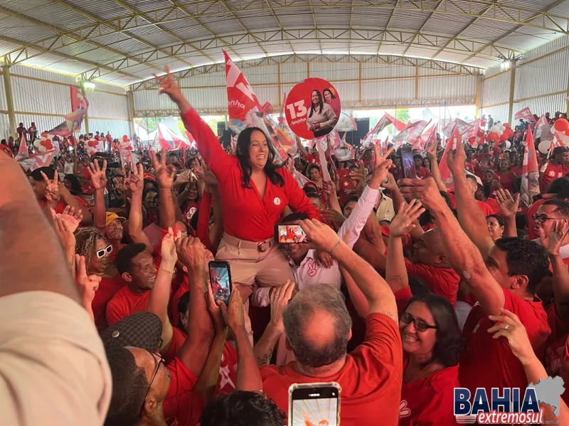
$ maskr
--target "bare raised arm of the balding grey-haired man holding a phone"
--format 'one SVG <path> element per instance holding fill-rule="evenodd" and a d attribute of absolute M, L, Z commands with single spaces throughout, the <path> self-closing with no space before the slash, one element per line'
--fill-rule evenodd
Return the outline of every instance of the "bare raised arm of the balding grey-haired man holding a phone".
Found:
<path fill-rule="evenodd" d="M 385 314 L 398 323 L 395 297 L 385 279 L 356 255 L 328 225 L 317 220 L 303 220 L 299 224 L 317 249 L 328 252 L 353 277 L 368 301 L 369 314 Z"/>

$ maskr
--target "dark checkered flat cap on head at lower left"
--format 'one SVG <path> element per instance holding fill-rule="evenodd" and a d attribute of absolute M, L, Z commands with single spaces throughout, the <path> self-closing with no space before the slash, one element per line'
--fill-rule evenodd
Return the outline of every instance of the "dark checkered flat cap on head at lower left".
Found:
<path fill-rule="evenodd" d="M 133 346 L 155 352 L 161 346 L 162 322 L 151 312 L 135 312 L 101 333 L 105 349 Z"/>

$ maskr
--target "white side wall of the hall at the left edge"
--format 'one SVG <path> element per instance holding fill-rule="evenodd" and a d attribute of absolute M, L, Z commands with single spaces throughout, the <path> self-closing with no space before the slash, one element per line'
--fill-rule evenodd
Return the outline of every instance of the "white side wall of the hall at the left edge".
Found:
<path fill-rule="evenodd" d="M 74 77 L 21 65 L 12 65 L 10 75 L 16 127 L 19 122 L 26 127 L 35 122 L 43 132 L 63 122 L 63 115 L 71 112 L 69 85 L 75 84 Z M 95 90 L 87 92 L 87 100 L 90 102 L 87 112 L 90 132 L 110 131 L 115 137 L 130 133 L 124 88 L 97 82 Z M 0 137 L 8 134 L 8 105 L 0 69 Z"/>

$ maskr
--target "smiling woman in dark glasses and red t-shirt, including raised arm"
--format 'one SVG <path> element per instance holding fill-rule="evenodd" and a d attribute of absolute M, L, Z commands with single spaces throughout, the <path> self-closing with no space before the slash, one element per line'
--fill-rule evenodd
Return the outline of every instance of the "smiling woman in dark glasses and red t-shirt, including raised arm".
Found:
<path fill-rule="evenodd" d="M 436 294 L 413 297 L 403 257 L 403 236 L 424 211 L 412 201 L 400 207 L 389 226 L 385 280 L 395 293 L 403 344 L 403 387 L 399 426 L 456 425 L 454 388 L 464 349 L 457 315 L 447 299 Z"/>

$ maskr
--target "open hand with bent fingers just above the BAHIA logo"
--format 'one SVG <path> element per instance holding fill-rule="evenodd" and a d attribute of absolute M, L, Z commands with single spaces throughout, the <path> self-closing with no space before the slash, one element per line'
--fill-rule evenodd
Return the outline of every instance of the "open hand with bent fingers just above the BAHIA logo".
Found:
<path fill-rule="evenodd" d="M 496 324 L 491 326 L 488 332 L 494 333 L 494 336 L 492 336 L 494 339 L 504 337 L 508 341 L 512 353 L 525 365 L 536 356 L 531 347 L 526 327 L 523 326 L 514 312 L 507 309 L 501 309 L 501 312 L 502 315 L 489 316 L 489 319 L 496 322 Z"/>

